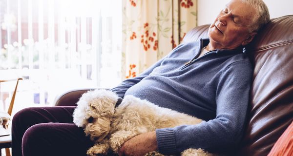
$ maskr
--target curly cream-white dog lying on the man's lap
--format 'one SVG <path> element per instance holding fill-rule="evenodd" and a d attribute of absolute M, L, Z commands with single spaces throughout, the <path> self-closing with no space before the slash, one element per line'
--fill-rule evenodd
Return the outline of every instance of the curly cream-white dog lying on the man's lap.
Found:
<path fill-rule="evenodd" d="M 127 140 L 139 134 L 202 121 L 133 96 L 124 97 L 115 108 L 117 100 L 114 92 L 94 90 L 84 93 L 77 102 L 73 122 L 83 127 L 86 136 L 95 141 L 95 145 L 86 153 L 88 156 L 106 155 L 109 149 L 117 154 Z M 156 156 L 160 154 L 156 153 Z M 187 149 L 181 156 L 213 155 L 202 149 Z"/>

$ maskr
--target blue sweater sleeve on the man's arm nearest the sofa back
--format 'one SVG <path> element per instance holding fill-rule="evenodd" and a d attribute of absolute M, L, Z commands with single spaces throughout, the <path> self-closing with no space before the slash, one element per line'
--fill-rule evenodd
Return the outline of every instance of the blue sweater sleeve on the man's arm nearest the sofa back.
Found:
<path fill-rule="evenodd" d="M 249 103 L 252 68 L 247 61 L 223 70 L 216 90 L 216 117 L 197 125 L 157 129 L 158 150 L 178 154 L 188 148 L 225 152 L 240 142 Z M 229 148 L 229 149 L 228 149 Z"/>

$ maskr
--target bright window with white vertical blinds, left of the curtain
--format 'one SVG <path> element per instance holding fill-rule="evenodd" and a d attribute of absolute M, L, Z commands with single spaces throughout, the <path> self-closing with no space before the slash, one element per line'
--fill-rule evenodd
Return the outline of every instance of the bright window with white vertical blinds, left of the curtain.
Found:
<path fill-rule="evenodd" d="M 0 0 L 0 79 L 19 83 L 16 112 L 74 88 L 121 81 L 121 0 Z M 7 109 L 16 81 L 0 84 Z"/>

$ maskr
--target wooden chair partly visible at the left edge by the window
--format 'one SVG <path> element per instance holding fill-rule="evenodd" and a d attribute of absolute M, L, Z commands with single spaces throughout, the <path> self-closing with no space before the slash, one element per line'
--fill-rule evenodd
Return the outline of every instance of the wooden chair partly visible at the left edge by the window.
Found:
<path fill-rule="evenodd" d="M 2 114 L 1 115 L 1 118 L 3 120 L 2 126 L 5 129 L 8 128 L 8 124 L 9 124 L 9 121 L 10 121 L 10 116 L 11 116 L 11 113 L 12 113 L 12 108 L 13 108 L 14 100 L 15 100 L 15 96 L 16 96 L 18 82 L 21 79 L 22 78 L 10 79 L 10 80 L 0 80 L 0 83 L 1 82 L 7 82 L 7 81 L 17 80 L 16 86 L 15 86 L 15 89 L 14 89 L 14 92 L 13 92 L 13 95 L 12 95 L 12 98 L 11 98 L 11 101 L 10 101 L 10 105 L 9 105 L 8 111 L 7 111 L 7 113 L 6 112 L 1 112 L 1 114 Z M 5 148 L 6 156 L 11 156 L 10 155 L 10 150 L 9 150 L 9 148 L 11 148 L 11 135 L 0 137 L 0 149 L 2 149 L 2 148 Z M 1 152 L 0 152 L 0 156 L 1 156 Z"/>

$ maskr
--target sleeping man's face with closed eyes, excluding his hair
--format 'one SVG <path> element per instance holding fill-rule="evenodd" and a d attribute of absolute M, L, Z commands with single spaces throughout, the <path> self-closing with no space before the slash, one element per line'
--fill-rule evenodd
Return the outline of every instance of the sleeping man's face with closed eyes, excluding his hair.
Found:
<path fill-rule="evenodd" d="M 248 26 L 255 10 L 240 0 L 231 0 L 209 27 L 210 43 L 217 49 L 234 49 L 245 45 L 251 35 Z"/>

